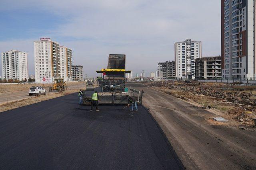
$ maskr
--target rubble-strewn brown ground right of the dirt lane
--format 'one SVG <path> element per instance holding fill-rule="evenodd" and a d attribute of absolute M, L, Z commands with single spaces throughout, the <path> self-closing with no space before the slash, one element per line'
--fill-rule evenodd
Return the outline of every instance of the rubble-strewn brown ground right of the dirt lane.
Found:
<path fill-rule="evenodd" d="M 146 82 L 154 90 L 186 100 L 247 127 L 256 123 L 256 86 L 214 82 Z"/>

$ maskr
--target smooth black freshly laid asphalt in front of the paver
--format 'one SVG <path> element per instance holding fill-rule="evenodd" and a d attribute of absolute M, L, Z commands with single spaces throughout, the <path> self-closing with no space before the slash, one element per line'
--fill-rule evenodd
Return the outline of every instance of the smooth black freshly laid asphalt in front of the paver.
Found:
<path fill-rule="evenodd" d="M 148 111 L 122 107 L 70 94 L 0 113 L 0 169 L 184 169 Z"/>

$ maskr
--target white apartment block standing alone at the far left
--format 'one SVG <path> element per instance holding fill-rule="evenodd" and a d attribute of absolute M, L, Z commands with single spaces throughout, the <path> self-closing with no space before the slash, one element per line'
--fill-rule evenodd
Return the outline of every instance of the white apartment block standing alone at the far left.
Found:
<path fill-rule="evenodd" d="M 2 78 L 25 80 L 28 79 L 28 54 L 11 50 L 2 53 Z"/>

